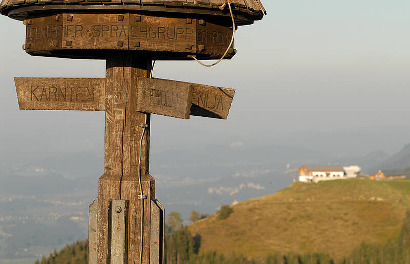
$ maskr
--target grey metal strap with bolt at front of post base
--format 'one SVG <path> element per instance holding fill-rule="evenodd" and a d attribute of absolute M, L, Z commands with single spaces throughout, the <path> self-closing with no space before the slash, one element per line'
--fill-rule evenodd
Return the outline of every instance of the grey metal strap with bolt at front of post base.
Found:
<path fill-rule="evenodd" d="M 109 207 L 108 259 L 110 264 L 127 264 L 127 200 L 111 200 Z"/>

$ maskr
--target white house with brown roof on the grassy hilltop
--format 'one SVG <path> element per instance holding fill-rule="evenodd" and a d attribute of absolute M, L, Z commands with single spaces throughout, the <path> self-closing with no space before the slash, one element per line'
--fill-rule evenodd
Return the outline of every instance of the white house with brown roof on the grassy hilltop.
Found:
<path fill-rule="evenodd" d="M 323 180 L 345 179 L 344 169 L 339 165 L 305 165 L 299 169 L 299 181 L 319 182 Z"/>

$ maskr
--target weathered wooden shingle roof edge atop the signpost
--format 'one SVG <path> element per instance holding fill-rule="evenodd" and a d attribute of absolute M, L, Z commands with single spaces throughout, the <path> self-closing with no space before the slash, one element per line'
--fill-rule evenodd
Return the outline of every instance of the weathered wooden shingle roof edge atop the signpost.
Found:
<path fill-rule="evenodd" d="M 23 20 L 32 14 L 57 12 L 166 12 L 229 16 L 225 0 L 2 0 L 0 13 Z M 232 0 L 238 25 L 266 14 L 260 0 Z"/>

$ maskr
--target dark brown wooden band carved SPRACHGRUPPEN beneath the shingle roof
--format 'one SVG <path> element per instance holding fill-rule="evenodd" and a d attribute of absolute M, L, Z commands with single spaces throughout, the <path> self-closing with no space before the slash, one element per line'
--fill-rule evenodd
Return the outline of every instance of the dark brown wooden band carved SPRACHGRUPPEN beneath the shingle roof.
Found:
<path fill-rule="evenodd" d="M 105 50 L 140 50 L 155 51 L 153 55 L 159 58 L 181 56 L 189 59 L 188 55 L 193 54 L 220 58 L 233 33 L 232 25 L 214 24 L 204 19 L 129 13 L 65 13 L 27 19 L 25 24 L 26 52 L 57 57 L 97 58 L 104 57 Z M 227 58 L 233 55 L 231 47 Z"/>

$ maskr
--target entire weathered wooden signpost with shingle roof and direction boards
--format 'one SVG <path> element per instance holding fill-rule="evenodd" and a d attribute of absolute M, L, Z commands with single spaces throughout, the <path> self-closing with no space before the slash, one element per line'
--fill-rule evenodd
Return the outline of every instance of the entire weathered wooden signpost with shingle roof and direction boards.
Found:
<path fill-rule="evenodd" d="M 31 55 L 106 60 L 105 78 L 15 78 L 20 109 L 105 111 L 90 264 L 161 264 L 165 210 L 149 174 L 151 114 L 227 119 L 235 90 L 150 78 L 153 60 L 230 59 L 259 0 L 2 0 Z"/>

